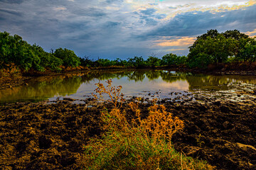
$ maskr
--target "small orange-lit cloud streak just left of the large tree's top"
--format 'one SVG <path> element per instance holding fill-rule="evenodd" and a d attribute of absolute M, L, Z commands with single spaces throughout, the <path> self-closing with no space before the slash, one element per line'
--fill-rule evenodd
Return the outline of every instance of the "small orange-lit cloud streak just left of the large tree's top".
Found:
<path fill-rule="evenodd" d="M 160 47 L 188 46 L 193 45 L 193 42 L 195 42 L 195 40 L 196 38 L 191 37 L 181 37 L 173 40 L 156 40 L 154 41 L 154 45 Z"/>

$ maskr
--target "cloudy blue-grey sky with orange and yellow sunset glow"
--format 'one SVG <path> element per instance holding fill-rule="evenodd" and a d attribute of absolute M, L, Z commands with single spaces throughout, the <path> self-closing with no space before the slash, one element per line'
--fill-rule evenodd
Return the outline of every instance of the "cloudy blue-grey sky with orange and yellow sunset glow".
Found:
<path fill-rule="evenodd" d="M 256 0 L 0 0 L 1 32 L 90 59 L 188 55 L 210 29 L 256 35 Z"/>

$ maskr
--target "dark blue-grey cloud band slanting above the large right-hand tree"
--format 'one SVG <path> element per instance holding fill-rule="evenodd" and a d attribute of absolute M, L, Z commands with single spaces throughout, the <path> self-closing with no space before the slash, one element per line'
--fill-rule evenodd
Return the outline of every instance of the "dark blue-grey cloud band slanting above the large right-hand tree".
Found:
<path fill-rule="evenodd" d="M 256 6 L 250 6 L 246 10 L 223 11 L 212 13 L 210 11 L 191 11 L 181 13 L 172 18 L 168 23 L 149 31 L 139 38 L 147 39 L 150 36 L 196 36 L 206 33 L 207 30 L 220 31 L 238 29 L 254 30 L 256 21 Z"/>

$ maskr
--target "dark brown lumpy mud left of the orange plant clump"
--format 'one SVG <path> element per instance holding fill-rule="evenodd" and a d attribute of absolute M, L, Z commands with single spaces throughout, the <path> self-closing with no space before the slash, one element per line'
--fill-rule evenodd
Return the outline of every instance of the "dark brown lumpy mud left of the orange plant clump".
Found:
<path fill-rule="evenodd" d="M 100 136 L 100 111 L 68 102 L 0 106 L 0 169 L 82 169 L 83 146 Z"/>

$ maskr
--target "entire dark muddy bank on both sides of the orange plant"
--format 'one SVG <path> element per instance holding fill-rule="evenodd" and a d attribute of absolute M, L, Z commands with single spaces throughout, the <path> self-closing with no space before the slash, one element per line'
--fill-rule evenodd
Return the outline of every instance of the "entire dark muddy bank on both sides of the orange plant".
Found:
<path fill-rule="evenodd" d="M 198 101 L 161 100 L 185 123 L 174 147 L 217 169 L 256 169 L 255 101 L 233 102 L 197 96 Z M 134 99 L 126 101 L 129 103 Z M 0 106 L 0 169 L 82 169 L 83 146 L 100 137 L 100 111 L 112 106 L 73 99 Z M 141 103 L 143 115 L 149 103 Z M 133 113 L 124 104 L 127 116 Z"/>

